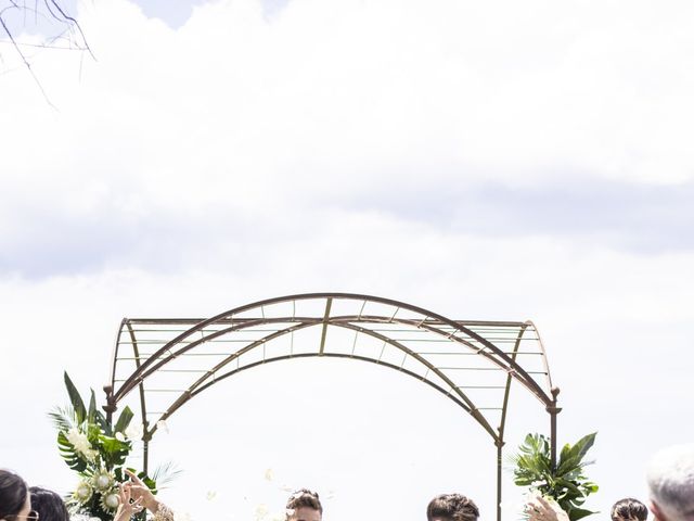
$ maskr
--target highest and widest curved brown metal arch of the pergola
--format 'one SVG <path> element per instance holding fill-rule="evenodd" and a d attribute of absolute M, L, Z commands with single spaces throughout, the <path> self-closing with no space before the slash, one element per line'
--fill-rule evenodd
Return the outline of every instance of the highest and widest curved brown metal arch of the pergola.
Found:
<path fill-rule="evenodd" d="M 131 374 L 130 378 L 128 378 L 128 380 L 120 386 L 118 392 L 115 394 L 114 399 L 116 402 L 118 402 L 126 394 L 128 394 L 132 390 L 132 386 L 134 385 L 134 381 L 139 378 L 139 374 L 138 374 L 139 372 L 144 372 L 149 368 L 150 365 L 154 364 L 154 360 L 156 358 L 158 358 L 163 353 L 166 353 L 167 351 L 169 351 L 171 346 L 178 344 L 180 341 L 182 341 L 183 339 L 185 339 L 190 334 L 192 334 L 192 333 L 194 333 L 196 331 L 200 331 L 200 330 L 204 329 L 205 327 L 207 327 L 207 326 L 209 326 L 211 323 L 215 323 L 216 321 L 218 321 L 220 319 L 223 319 L 223 318 L 227 318 L 227 317 L 230 317 L 230 319 L 233 320 L 233 318 L 231 318 L 231 317 L 233 317 L 234 315 L 247 312 L 249 309 L 262 308 L 264 306 L 268 306 L 268 305 L 272 305 L 272 304 L 279 304 L 279 303 L 282 303 L 282 302 L 305 301 L 305 300 L 313 300 L 313 298 L 326 298 L 326 300 L 329 300 L 329 298 L 330 300 L 332 300 L 332 298 L 345 298 L 345 300 L 374 302 L 374 303 L 395 306 L 395 307 L 402 308 L 402 309 L 408 309 L 410 312 L 414 312 L 414 313 L 417 313 L 420 315 L 423 315 L 426 318 L 434 318 L 436 320 L 439 320 L 439 321 L 452 327 L 455 331 L 464 332 L 470 338 L 475 339 L 477 342 L 481 343 L 483 345 L 488 347 L 490 351 L 494 352 L 497 355 L 499 355 L 499 357 L 502 360 L 504 360 L 506 364 L 509 364 L 510 368 L 512 368 L 510 373 L 513 372 L 514 373 L 514 378 L 517 378 L 517 380 L 520 383 L 523 383 L 526 387 L 528 387 L 528 390 L 530 392 L 532 392 L 532 394 L 535 394 L 541 402 L 543 402 L 545 406 L 550 406 L 552 404 L 552 399 L 542 391 L 542 389 L 537 384 L 537 382 L 529 374 L 527 374 L 527 372 L 520 366 L 518 366 L 514 360 L 512 360 L 506 354 L 504 354 L 496 345 L 493 345 L 492 343 L 490 343 L 489 341 L 487 341 L 483 336 L 478 335 L 474 331 L 471 331 L 470 329 L 465 328 L 464 326 L 461 326 L 460 323 L 457 323 L 453 320 L 450 320 L 450 319 L 444 317 L 442 315 L 429 312 L 429 310 L 424 309 L 424 308 L 419 307 L 419 306 L 412 306 L 410 304 L 407 304 L 407 303 L 403 303 L 403 302 L 399 302 L 399 301 L 394 301 L 394 300 L 390 300 L 390 298 L 384 298 L 384 297 L 373 296 L 373 295 L 355 294 L 355 293 L 304 293 L 304 294 L 297 294 L 297 295 L 287 295 L 287 296 L 280 296 L 280 297 L 274 297 L 274 298 L 267 298 L 265 301 L 258 301 L 258 302 L 255 302 L 255 303 L 252 303 L 252 304 L 246 304 L 244 306 L 236 307 L 236 308 L 231 309 L 229 312 L 224 312 L 224 313 L 216 315 L 216 316 L 214 316 L 211 318 L 203 320 L 202 322 L 197 323 L 196 326 L 193 326 L 192 328 L 190 328 L 187 331 L 182 332 L 181 334 L 179 334 L 175 339 L 170 340 L 166 345 L 164 345 L 156 353 L 154 353 L 152 355 L 152 357 L 150 357 L 147 360 L 145 360 L 144 364 L 142 364 L 141 368 L 138 369 L 138 371 L 136 371 L 133 374 Z M 425 320 L 426 320 L 426 318 L 425 318 Z M 391 321 L 397 321 L 397 320 L 391 319 Z M 445 336 L 448 336 L 449 339 L 455 339 L 457 342 L 465 343 L 466 345 L 472 346 L 470 343 L 465 342 L 464 339 L 460 339 L 454 333 L 451 333 L 450 335 L 445 334 Z M 479 350 L 477 350 L 477 351 L 479 351 Z M 504 368 L 498 361 L 494 361 L 494 363 L 497 365 L 499 365 L 500 367 L 502 367 L 504 370 L 510 370 L 510 368 Z M 160 365 L 157 364 L 156 367 L 158 368 L 158 367 L 160 367 Z M 147 374 L 150 374 L 150 373 L 151 372 L 147 372 Z M 518 378 L 517 376 L 520 376 L 522 378 Z M 143 377 L 143 378 L 146 378 L 146 377 Z"/>

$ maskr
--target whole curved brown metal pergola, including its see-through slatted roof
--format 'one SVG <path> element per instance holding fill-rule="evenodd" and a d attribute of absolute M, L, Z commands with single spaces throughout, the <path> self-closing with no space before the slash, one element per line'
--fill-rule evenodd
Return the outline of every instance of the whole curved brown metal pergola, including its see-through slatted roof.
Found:
<path fill-rule="evenodd" d="M 247 304 L 208 319 L 123 319 L 111 382 L 111 417 L 136 392 L 149 444 L 160 421 L 198 394 L 241 371 L 306 357 L 351 358 L 398 370 L 452 399 L 497 447 L 497 519 L 512 382 L 550 415 L 556 461 L 556 405 L 547 354 L 531 321 L 451 320 L 371 295 L 308 293 Z"/>

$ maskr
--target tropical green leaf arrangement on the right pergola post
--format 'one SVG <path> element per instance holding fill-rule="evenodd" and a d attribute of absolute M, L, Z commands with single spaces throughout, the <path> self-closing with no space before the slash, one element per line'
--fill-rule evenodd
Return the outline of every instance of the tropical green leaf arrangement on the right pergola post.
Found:
<path fill-rule="evenodd" d="M 596 434 L 593 432 L 574 445 L 564 445 L 556 469 L 552 469 L 550 441 L 541 434 L 528 434 L 518 447 L 518 454 L 512 457 L 515 484 L 553 498 L 570 521 L 596 513 L 581 508 L 587 497 L 597 492 L 597 485 L 583 474 L 583 468 L 593 462 L 583 461 L 583 458 Z"/>

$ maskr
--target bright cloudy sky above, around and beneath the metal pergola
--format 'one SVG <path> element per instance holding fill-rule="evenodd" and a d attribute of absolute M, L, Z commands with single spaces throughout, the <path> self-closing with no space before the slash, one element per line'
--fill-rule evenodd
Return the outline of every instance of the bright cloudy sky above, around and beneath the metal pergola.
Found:
<path fill-rule="evenodd" d="M 531 319 L 560 442 L 599 432 L 602 518 L 692 441 L 690 2 L 65 5 L 93 56 L 13 18 L 30 74 L 0 42 L 0 467 L 74 486 L 47 411 L 63 370 L 106 383 L 123 317 L 313 291 Z M 458 491 L 492 519 L 494 447 L 424 387 L 330 360 L 247 371 L 157 433 L 182 470 L 162 497 L 246 520 L 309 486 L 330 521 L 415 521 Z M 507 452 L 549 430 L 514 399 Z"/>

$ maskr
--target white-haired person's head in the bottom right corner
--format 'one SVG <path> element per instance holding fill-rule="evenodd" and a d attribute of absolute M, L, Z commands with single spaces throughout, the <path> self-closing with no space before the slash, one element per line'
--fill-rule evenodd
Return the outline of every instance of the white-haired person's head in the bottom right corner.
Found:
<path fill-rule="evenodd" d="M 646 480 L 656 520 L 694 521 L 694 444 L 656 453 Z"/>

